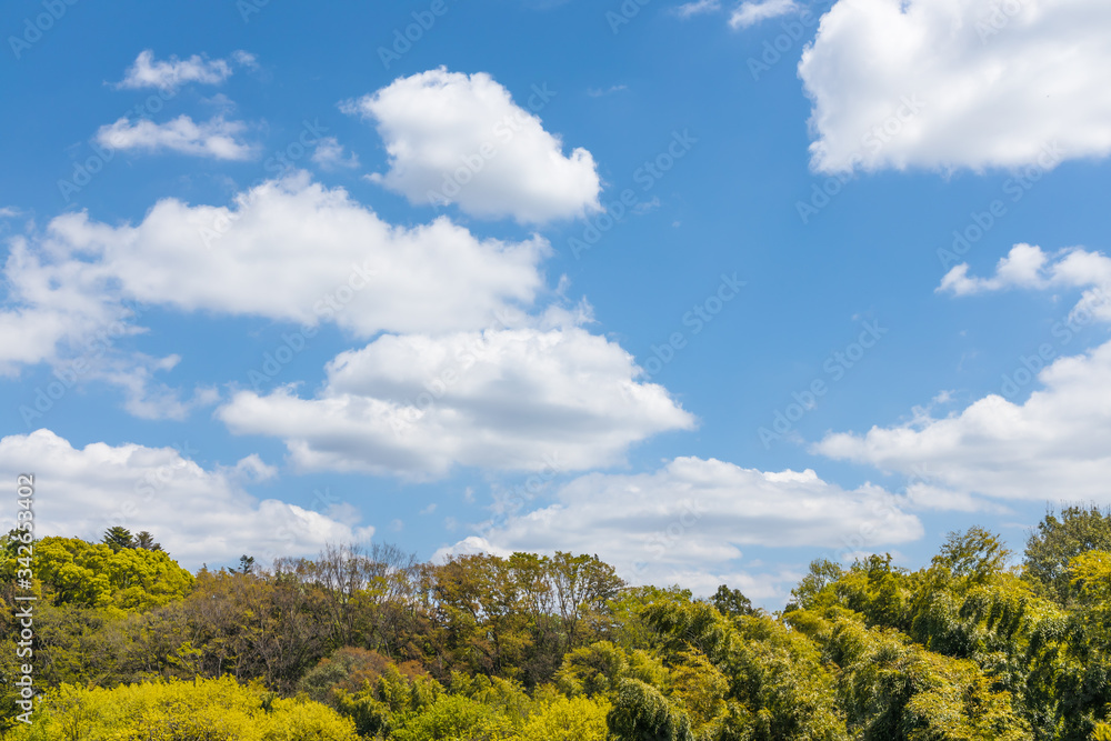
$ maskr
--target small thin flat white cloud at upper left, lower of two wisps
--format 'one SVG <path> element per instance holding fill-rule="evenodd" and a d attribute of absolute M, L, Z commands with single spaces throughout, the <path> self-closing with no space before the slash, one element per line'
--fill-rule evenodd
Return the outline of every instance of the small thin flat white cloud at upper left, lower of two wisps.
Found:
<path fill-rule="evenodd" d="M 194 157 L 218 160 L 248 160 L 257 147 L 239 140 L 247 130 L 242 121 L 226 121 L 217 117 L 196 123 L 188 116 L 179 116 L 166 123 L 149 119 L 129 121 L 121 118 L 116 123 L 102 126 L 97 131 L 97 142 L 111 149 L 138 149 L 146 152 L 170 150 Z"/>

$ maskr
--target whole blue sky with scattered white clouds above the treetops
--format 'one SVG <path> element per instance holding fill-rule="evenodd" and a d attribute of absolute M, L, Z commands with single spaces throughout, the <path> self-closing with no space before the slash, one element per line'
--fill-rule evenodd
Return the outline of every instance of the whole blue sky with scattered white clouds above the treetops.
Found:
<path fill-rule="evenodd" d="M 1111 502 L 1109 23 L 10 2 L 0 469 L 190 568 L 572 550 L 775 607 L 1021 550 Z"/>

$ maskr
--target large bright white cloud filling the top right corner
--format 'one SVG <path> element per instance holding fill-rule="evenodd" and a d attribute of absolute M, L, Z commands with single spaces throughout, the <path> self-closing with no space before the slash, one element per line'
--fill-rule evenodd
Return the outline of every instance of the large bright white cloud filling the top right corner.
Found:
<path fill-rule="evenodd" d="M 1103 157 L 1108 28 L 1103 0 L 840 0 L 799 64 L 812 164 L 981 170 Z"/>

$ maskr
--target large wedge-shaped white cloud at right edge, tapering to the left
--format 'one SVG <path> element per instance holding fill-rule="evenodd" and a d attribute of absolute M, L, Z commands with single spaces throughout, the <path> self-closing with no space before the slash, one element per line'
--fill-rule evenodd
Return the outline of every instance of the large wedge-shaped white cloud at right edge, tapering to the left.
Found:
<path fill-rule="evenodd" d="M 1031 349 L 1001 393 L 1017 395 L 1041 366 L 1042 388 L 1024 403 L 991 394 L 944 419 L 829 434 L 814 450 L 958 493 L 1111 503 L 1111 343 L 1051 364 Z"/>

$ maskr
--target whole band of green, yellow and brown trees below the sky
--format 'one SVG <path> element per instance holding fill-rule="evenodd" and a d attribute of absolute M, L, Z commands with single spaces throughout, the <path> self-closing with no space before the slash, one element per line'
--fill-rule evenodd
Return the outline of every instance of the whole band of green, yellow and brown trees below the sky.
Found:
<path fill-rule="evenodd" d="M 815 560 L 782 611 L 565 552 L 383 544 L 190 573 L 147 532 L 0 539 L 4 741 L 1111 740 L 1111 514 L 930 564 Z M 30 723 L 17 720 L 33 662 Z"/>

